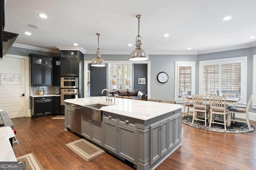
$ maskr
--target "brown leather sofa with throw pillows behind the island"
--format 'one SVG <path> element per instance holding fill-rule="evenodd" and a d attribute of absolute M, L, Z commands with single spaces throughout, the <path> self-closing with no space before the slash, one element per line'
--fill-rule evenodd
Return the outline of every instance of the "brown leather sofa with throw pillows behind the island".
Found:
<path fill-rule="evenodd" d="M 140 90 L 110 90 L 110 94 L 118 94 L 116 98 L 147 100 L 148 95 Z"/>

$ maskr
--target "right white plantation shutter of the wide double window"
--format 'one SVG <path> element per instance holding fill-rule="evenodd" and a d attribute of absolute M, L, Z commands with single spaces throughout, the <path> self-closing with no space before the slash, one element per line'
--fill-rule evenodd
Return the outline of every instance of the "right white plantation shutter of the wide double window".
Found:
<path fill-rule="evenodd" d="M 241 97 L 241 63 L 221 65 L 221 91 Z"/>

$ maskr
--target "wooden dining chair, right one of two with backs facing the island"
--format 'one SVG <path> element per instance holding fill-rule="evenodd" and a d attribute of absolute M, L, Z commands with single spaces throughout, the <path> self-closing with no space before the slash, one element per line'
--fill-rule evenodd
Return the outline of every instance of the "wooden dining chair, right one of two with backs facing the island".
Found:
<path fill-rule="evenodd" d="M 209 100 L 211 113 L 209 127 L 211 127 L 212 123 L 217 123 L 224 125 L 226 131 L 226 126 L 229 125 L 229 110 L 226 108 L 226 96 L 210 96 Z M 219 115 L 219 119 L 215 117 L 216 115 Z M 224 122 L 222 123 L 222 121 Z"/>

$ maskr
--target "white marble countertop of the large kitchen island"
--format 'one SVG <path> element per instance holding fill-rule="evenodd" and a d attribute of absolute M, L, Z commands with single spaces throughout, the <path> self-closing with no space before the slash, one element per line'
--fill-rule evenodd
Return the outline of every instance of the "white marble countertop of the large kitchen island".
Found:
<path fill-rule="evenodd" d="M 106 102 L 106 96 L 66 99 L 64 102 L 80 106 L 89 104 L 106 104 L 110 106 L 101 107 L 102 111 L 108 111 L 119 115 L 133 117 L 141 120 L 148 120 L 165 113 L 180 109 L 183 106 L 179 104 L 167 104 L 160 102 L 149 102 L 144 100 L 132 100 L 116 98 L 116 104 Z"/>

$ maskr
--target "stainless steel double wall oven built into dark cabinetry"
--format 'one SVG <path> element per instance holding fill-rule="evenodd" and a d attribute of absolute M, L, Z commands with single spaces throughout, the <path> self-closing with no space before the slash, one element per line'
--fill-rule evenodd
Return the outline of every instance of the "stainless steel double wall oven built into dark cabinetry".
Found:
<path fill-rule="evenodd" d="M 64 106 L 64 100 L 78 98 L 78 77 L 61 77 L 60 88 L 60 105 Z"/>

